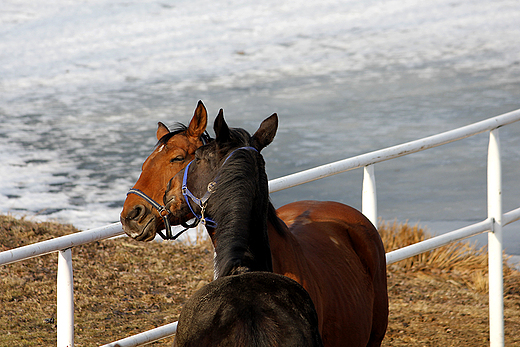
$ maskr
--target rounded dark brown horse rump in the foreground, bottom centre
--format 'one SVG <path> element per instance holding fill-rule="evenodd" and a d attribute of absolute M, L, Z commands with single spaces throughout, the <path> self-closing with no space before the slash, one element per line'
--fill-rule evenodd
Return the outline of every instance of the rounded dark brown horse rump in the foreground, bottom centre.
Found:
<path fill-rule="evenodd" d="M 297 282 L 270 272 L 225 276 L 184 305 L 177 347 L 319 347 L 318 317 Z"/>

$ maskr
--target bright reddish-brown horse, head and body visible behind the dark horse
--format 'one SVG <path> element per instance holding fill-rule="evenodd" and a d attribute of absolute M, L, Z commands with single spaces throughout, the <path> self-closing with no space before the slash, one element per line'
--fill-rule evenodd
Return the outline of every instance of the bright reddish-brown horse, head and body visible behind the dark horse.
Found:
<path fill-rule="evenodd" d="M 169 179 L 202 145 L 206 117 L 199 102 L 188 131 L 168 133 L 159 124 L 158 147 L 143 164 L 134 188 L 162 201 Z M 324 344 L 340 346 L 355 337 L 353 346 L 380 345 L 388 322 L 388 296 L 384 250 L 374 226 L 359 211 L 334 202 L 294 202 L 279 208 L 277 214 L 290 232 L 280 235 L 268 229 L 273 270 L 295 279 L 309 291 Z M 128 195 L 121 221 L 125 232 L 141 241 L 152 240 L 164 228 L 159 212 L 135 194 Z M 368 276 L 366 296 L 359 289 L 359 282 L 364 280 L 360 272 Z M 361 314 L 359 306 L 366 309 Z M 363 328 L 356 331 L 357 325 L 349 322 L 358 318 Z"/>

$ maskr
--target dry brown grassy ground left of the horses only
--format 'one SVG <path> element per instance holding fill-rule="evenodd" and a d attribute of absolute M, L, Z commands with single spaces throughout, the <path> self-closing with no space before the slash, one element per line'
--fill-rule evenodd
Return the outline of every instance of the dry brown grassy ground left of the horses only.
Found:
<path fill-rule="evenodd" d="M 0 250 L 76 231 L 0 216 Z M 209 247 L 129 238 L 75 247 L 75 346 L 98 346 L 177 320 L 185 300 L 212 278 Z M 56 345 L 56 271 L 55 253 L 0 267 L 0 346 Z"/>

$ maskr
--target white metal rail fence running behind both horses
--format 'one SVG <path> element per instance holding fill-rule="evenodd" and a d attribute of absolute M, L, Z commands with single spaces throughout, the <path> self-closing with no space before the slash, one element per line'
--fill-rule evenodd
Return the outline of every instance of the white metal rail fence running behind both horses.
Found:
<path fill-rule="evenodd" d="M 520 121 L 520 110 L 496 116 L 438 135 L 366 153 L 313 169 L 271 180 L 269 191 L 276 192 L 345 171 L 363 168 L 362 212 L 377 225 L 377 195 L 374 164 L 444 145 L 489 131 L 488 215 L 479 222 L 386 254 L 387 264 L 432 250 L 473 235 L 488 232 L 490 345 L 504 345 L 502 227 L 520 220 L 520 207 L 502 212 L 502 182 L 499 128 Z M 74 300 L 71 248 L 123 235 L 120 223 L 66 235 L 0 253 L 0 265 L 58 252 L 57 346 L 74 345 Z M 175 333 L 177 322 L 152 329 L 105 346 L 138 346 Z"/>

